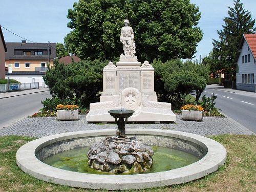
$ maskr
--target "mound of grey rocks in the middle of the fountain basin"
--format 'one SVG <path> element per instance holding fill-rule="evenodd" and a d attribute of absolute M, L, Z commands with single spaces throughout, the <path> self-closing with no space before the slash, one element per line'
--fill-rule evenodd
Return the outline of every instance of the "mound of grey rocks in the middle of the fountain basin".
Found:
<path fill-rule="evenodd" d="M 153 164 L 153 155 L 152 148 L 139 140 L 118 142 L 113 137 L 93 144 L 87 153 L 89 166 L 114 174 L 146 172 Z"/>

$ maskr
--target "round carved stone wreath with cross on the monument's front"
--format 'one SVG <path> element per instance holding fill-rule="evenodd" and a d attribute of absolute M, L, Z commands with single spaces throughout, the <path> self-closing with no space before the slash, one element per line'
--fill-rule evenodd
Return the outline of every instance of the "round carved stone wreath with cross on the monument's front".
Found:
<path fill-rule="evenodd" d="M 141 104 L 141 93 L 135 88 L 125 88 L 120 94 L 121 105 L 128 110 L 136 110 Z"/>

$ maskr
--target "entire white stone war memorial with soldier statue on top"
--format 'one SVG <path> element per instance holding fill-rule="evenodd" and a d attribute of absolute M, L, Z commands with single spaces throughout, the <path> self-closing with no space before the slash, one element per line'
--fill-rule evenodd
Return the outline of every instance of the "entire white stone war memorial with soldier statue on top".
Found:
<path fill-rule="evenodd" d="M 90 104 L 88 122 L 113 122 L 108 111 L 115 109 L 134 110 L 128 121 L 175 121 L 176 115 L 171 104 L 157 102 L 154 91 L 154 68 L 148 61 L 138 61 L 134 32 L 129 20 L 124 20 L 120 41 L 123 51 L 120 60 L 114 65 L 109 62 L 103 69 L 103 92 L 100 102 Z"/>

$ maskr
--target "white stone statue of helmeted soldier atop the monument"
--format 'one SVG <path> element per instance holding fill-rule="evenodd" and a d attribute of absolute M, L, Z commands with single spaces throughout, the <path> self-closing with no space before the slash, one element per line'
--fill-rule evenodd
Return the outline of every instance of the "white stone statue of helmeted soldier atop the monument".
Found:
<path fill-rule="evenodd" d="M 135 51 L 135 42 L 134 42 L 134 32 L 133 28 L 131 28 L 128 19 L 124 20 L 124 27 L 121 29 L 121 36 L 120 36 L 120 41 L 123 44 L 123 51 L 124 55 L 130 55 L 134 56 L 136 51 Z"/>

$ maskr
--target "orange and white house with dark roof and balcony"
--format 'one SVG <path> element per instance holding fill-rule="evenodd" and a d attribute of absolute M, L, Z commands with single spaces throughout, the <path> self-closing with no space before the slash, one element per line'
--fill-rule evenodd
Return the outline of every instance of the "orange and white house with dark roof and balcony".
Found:
<path fill-rule="evenodd" d="M 56 43 L 27 43 L 23 40 L 6 42 L 6 47 L 5 65 L 12 66 L 10 78 L 22 83 L 39 82 L 42 86 L 47 63 L 50 60 L 50 67 L 53 66 L 53 59 L 56 58 Z"/>

